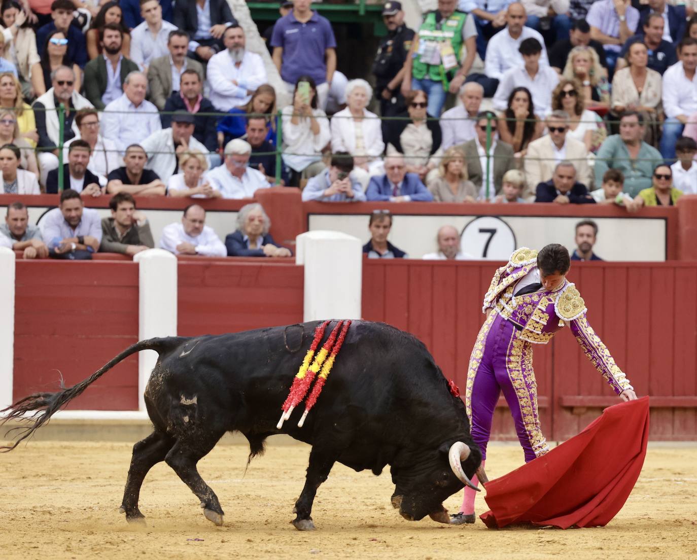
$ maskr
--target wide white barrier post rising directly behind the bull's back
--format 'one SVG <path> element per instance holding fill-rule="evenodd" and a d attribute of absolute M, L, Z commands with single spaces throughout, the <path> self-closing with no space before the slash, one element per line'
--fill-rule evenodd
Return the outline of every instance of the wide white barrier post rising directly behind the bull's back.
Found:
<path fill-rule="evenodd" d="M 296 238 L 296 264 L 305 266 L 303 320 L 360 319 L 360 239 L 341 232 L 314 231 Z"/>

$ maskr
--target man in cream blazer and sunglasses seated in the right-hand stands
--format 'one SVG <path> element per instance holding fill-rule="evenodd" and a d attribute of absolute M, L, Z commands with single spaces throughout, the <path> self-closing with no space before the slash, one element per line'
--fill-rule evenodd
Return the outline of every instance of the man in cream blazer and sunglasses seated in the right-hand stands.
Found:
<path fill-rule="evenodd" d="M 546 125 L 549 134 L 528 145 L 525 158 L 527 188 L 523 190 L 523 198 L 530 200 L 535 197 L 538 183 L 549 181 L 560 161 L 572 162 L 576 167 L 577 180 L 590 190 L 592 172 L 588 165 L 588 150 L 581 140 L 567 136 L 569 114 L 565 111 L 553 111 L 547 117 Z"/>

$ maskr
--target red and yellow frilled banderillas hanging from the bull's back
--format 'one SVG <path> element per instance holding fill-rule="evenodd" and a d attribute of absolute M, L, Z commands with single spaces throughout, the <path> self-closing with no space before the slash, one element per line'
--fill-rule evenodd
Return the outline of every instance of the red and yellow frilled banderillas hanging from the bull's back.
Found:
<path fill-rule="evenodd" d="M 288 397 L 283 403 L 283 413 L 281 414 L 281 418 L 279 418 L 279 421 L 276 425 L 276 427 L 279 430 L 283 426 L 284 421 L 288 420 L 291 417 L 293 409 L 295 409 L 295 407 L 297 407 L 298 404 L 300 404 L 300 402 L 302 402 L 302 400 L 305 398 L 305 395 L 307 395 L 309 386 L 312 385 L 312 381 L 314 381 L 314 378 L 316 374 L 320 371 L 320 368 L 320 377 L 314 386 L 312 394 L 307 400 L 305 413 L 302 415 L 300 422 L 298 422 L 298 427 L 302 427 L 302 424 L 305 422 L 305 418 L 307 418 L 307 413 L 310 409 L 312 409 L 317 398 L 319 397 L 319 393 L 321 393 L 322 391 L 322 387 L 324 386 L 329 372 L 332 369 L 332 365 L 334 365 L 334 361 L 336 359 L 337 354 L 339 353 L 339 349 L 341 349 L 342 344 L 344 343 L 344 338 L 346 338 L 346 331 L 348 331 L 348 326 L 351 325 L 351 321 L 338 321 L 337 325 L 332 329 L 329 338 L 324 343 L 321 350 L 317 352 L 316 356 L 314 356 L 314 351 L 319 345 L 319 342 L 322 340 L 325 329 L 329 323 L 330 321 L 324 321 L 315 328 L 312 345 L 310 345 L 309 349 L 307 350 L 307 354 L 305 354 L 305 359 L 302 361 L 302 364 L 298 369 L 298 373 L 296 374 L 295 379 L 293 379 L 293 385 L 291 386 L 291 390 L 288 393 Z M 342 324 L 344 325 L 343 329 Z M 339 331 L 341 331 L 340 335 Z M 339 337 L 339 340 L 337 340 L 337 336 Z M 336 345 L 335 342 L 337 342 Z M 314 361 L 312 361 L 313 356 Z M 327 356 L 329 356 L 328 360 Z M 312 365 L 309 365 L 310 361 L 312 361 Z"/>

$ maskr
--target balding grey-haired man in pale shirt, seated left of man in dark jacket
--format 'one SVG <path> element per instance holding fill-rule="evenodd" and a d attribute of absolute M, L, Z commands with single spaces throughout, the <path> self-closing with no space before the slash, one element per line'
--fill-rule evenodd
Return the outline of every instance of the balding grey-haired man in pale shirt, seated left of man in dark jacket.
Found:
<path fill-rule="evenodd" d="M 145 75 L 132 72 L 123 81 L 123 95 L 109 103 L 102 113 L 102 135 L 116 142 L 121 153 L 162 128 L 158 108 L 145 100 L 147 91 Z"/>

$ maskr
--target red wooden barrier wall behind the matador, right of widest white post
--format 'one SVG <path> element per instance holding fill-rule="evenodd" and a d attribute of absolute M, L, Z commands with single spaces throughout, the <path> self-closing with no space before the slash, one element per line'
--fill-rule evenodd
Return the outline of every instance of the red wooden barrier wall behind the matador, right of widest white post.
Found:
<path fill-rule="evenodd" d="M 367 259 L 363 316 L 417 335 L 445 376 L 464 389 L 484 318 L 482 298 L 500 264 Z M 636 392 L 652 396 L 651 437 L 697 437 L 697 264 L 574 263 L 569 279 Z M 619 402 L 564 331 L 535 347 L 535 375 L 549 439 L 568 439 L 599 409 Z M 515 439 L 505 405 L 497 409 L 493 431 Z"/>

